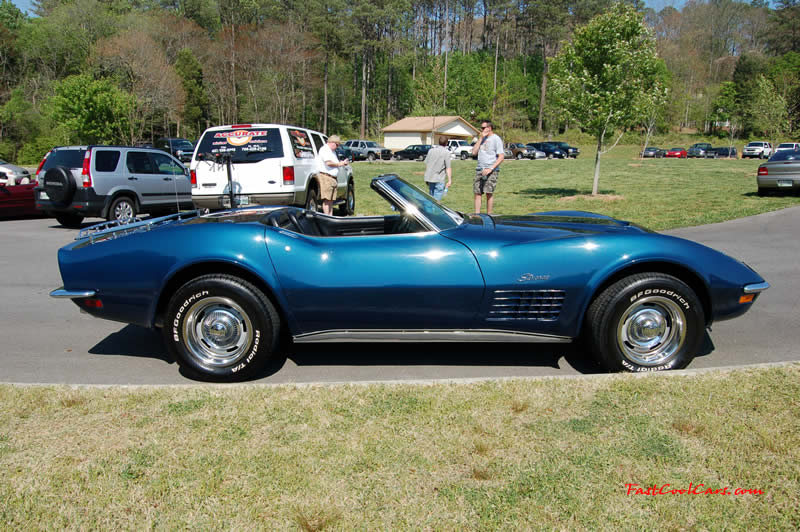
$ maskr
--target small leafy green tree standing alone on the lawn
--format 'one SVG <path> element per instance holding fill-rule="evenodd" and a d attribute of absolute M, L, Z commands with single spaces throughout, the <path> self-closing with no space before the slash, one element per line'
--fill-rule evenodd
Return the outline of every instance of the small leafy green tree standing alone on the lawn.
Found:
<path fill-rule="evenodd" d="M 573 42 L 565 45 L 553 61 L 551 76 L 557 101 L 597 140 L 592 195 L 598 192 L 606 139 L 646 115 L 653 95 L 663 91 L 659 71 L 652 33 L 641 14 L 623 3 L 577 29 Z"/>

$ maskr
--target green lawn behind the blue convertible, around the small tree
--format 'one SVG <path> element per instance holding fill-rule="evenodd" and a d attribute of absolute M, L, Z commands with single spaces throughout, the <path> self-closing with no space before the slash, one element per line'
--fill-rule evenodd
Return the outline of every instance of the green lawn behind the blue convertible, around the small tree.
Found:
<path fill-rule="evenodd" d="M 644 159 L 621 146 L 601 159 L 600 195 L 591 197 L 594 154 L 576 160 L 505 161 L 495 197 L 496 214 L 586 210 L 653 230 L 721 222 L 800 205 L 798 196 L 759 197 L 754 159 Z M 588 150 L 587 150 L 588 151 Z M 396 173 L 425 188 L 423 162 L 359 162 L 356 213 L 386 214 L 388 204 L 369 188 L 373 177 Z M 453 187 L 444 204 L 473 212 L 475 162 L 453 161 Z"/>

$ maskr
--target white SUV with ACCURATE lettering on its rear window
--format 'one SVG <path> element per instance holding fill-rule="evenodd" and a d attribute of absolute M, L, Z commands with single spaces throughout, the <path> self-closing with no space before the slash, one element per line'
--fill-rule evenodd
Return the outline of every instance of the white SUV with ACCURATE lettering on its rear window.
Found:
<path fill-rule="evenodd" d="M 192 201 L 201 209 L 230 207 L 228 169 L 237 206 L 297 205 L 318 211 L 319 185 L 314 159 L 327 137 L 283 124 L 235 124 L 206 129 L 195 147 L 189 174 Z M 339 169 L 337 214 L 355 211 L 355 185 L 349 166 Z"/>

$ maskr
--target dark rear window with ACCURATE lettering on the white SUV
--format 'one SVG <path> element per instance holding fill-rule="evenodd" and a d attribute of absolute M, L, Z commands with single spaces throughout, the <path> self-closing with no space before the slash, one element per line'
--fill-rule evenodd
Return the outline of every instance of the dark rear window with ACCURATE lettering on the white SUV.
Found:
<path fill-rule="evenodd" d="M 283 143 L 277 128 L 231 128 L 206 131 L 197 153 L 230 153 L 233 163 L 255 163 L 283 157 Z"/>

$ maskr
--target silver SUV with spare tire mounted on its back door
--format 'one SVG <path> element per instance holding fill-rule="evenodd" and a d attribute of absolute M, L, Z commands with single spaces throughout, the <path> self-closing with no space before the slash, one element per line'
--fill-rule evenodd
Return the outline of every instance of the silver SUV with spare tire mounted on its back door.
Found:
<path fill-rule="evenodd" d="M 192 209 L 189 170 L 153 148 L 61 146 L 36 171 L 36 208 L 65 227 L 99 216 L 122 223 L 138 213 Z"/>

